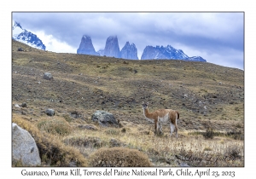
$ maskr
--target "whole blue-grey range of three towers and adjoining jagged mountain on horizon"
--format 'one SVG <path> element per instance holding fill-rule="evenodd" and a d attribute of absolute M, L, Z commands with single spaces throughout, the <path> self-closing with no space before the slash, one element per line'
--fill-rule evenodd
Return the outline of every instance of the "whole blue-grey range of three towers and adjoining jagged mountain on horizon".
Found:
<path fill-rule="evenodd" d="M 110 36 L 107 38 L 105 49 L 100 49 L 97 52 L 95 51 L 93 44 L 91 42 L 90 36 L 84 35 L 79 49 L 77 50 L 78 54 L 85 55 L 101 55 L 109 56 L 115 58 L 131 59 L 138 60 L 137 57 L 137 48 L 134 43 L 126 42 L 123 49 L 119 49 L 119 41 L 117 36 Z M 183 53 L 181 49 L 174 49 L 171 45 L 166 47 L 157 45 L 156 47 L 147 46 L 143 50 L 143 55 L 141 60 L 158 60 L 158 59 L 167 59 L 167 60 L 183 60 L 183 61 L 204 61 L 205 59 L 201 56 L 189 57 Z"/>

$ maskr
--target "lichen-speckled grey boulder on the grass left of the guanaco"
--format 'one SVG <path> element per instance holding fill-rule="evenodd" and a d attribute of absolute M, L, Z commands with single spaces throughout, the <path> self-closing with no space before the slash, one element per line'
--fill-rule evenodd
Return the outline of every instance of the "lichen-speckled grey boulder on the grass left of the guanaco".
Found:
<path fill-rule="evenodd" d="M 91 120 L 98 122 L 102 126 L 118 125 L 112 113 L 104 111 L 96 111 L 91 117 Z"/>

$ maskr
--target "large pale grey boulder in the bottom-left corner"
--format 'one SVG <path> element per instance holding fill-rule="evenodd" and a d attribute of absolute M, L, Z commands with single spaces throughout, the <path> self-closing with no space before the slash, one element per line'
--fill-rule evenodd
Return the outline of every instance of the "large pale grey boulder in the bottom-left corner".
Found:
<path fill-rule="evenodd" d="M 35 140 L 28 131 L 13 123 L 12 130 L 12 162 L 21 162 L 23 166 L 41 165 L 41 159 Z"/>

